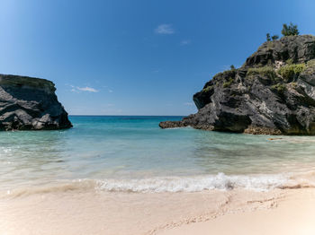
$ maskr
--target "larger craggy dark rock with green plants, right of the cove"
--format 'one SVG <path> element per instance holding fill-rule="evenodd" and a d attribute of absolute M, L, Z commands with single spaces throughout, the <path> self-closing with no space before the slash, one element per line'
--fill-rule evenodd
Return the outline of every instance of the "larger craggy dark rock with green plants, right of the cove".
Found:
<path fill-rule="evenodd" d="M 196 114 L 159 126 L 315 135 L 315 37 L 265 42 L 240 68 L 216 74 L 193 101 Z"/>

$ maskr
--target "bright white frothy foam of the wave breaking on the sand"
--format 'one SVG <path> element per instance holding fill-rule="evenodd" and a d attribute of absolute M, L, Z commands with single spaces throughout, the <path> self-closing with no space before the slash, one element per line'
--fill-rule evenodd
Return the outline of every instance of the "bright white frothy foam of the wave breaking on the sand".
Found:
<path fill-rule="evenodd" d="M 284 175 L 228 176 L 223 173 L 202 177 L 169 177 L 144 179 L 98 180 L 98 188 L 121 192 L 199 192 L 202 190 L 230 190 L 243 188 L 265 191 L 285 187 L 292 181 Z"/>

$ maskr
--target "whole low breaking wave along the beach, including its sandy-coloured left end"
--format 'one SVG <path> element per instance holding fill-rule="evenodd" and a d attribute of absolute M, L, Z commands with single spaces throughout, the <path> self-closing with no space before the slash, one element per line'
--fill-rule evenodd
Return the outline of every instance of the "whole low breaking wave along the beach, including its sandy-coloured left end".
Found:
<path fill-rule="evenodd" d="M 313 179 L 313 180 L 312 180 Z M 279 188 L 315 187 L 315 173 L 303 175 L 234 175 L 224 173 L 198 177 L 165 177 L 142 179 L 76 179 L 43 187 L 7 190 L 6 196 L 60 193 L 67 191 L 106 191 L 129 193 L 200 192 L 204 190 L 247 189 L 268 191 Z"/>

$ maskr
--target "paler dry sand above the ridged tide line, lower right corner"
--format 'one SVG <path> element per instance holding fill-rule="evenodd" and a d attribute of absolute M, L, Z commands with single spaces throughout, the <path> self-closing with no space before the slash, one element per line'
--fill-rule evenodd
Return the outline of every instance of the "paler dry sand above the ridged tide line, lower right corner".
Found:
<path fill-rule="evenodd" d="M 315 192 L 293 190 L 270 210 L 226 213 L 207 222 L 196 222 L 161 231 L 158 235 L 314 235 Z"/>

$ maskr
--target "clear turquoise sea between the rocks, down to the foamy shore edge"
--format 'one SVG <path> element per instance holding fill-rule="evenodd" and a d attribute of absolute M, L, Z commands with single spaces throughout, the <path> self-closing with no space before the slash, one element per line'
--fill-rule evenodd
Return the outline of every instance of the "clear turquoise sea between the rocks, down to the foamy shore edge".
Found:
<path fill-rule="evenodd" d="M 71 116 L 68 130 L 1 132 L 0 189 L 65 180 L 131 191 L 277 187 L 314 170 L 315 137 L 158 127 L 181 118 Z"/>

